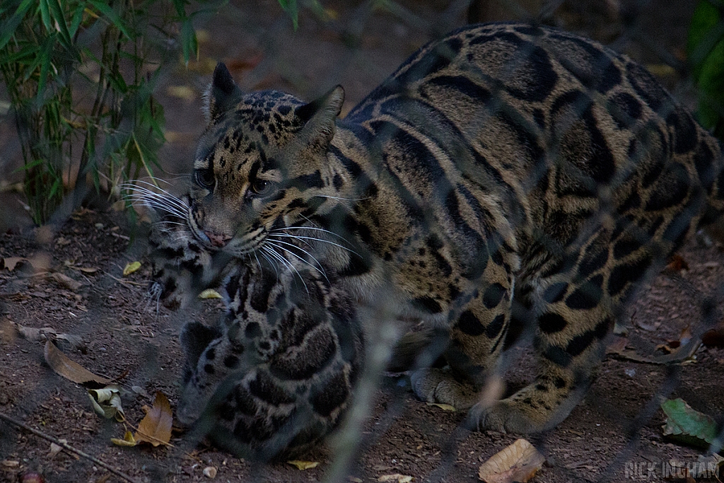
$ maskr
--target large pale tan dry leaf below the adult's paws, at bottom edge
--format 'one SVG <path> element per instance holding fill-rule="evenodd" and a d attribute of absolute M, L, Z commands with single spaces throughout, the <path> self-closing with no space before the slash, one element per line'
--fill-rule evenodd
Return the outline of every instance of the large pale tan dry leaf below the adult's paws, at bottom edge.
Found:
<path fill-rule="evenodd" d="M 545 458 L 527 440 L 516 440 L 508 448 L 495 453 L 478 470 L 478 476 L 486 483 L 529 482 Z"/>

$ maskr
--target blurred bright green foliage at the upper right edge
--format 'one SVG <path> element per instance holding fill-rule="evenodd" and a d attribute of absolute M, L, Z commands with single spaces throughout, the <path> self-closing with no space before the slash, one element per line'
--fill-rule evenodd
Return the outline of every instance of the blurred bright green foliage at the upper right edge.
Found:
<path fill-rule="evenodd" d="M 699 1 L 686 51 L 699 88 L 699 122 L 724 140 L 724 0 Z"/>

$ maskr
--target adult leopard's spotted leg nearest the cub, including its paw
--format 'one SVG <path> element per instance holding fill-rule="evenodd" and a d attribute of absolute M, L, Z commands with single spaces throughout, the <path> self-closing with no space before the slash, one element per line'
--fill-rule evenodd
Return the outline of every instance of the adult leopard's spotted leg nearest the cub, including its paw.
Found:
<path fill-rule="evenodd" d="M 513 276 L 508 267 L 490 261 L 481 277 L 485 282 L 455 311 L 458 316 L 442 354 L 448 366 L 418 369 L 411 374 L 413 390 L 422 400 L 458 409 L 470 408 L 479 400 L 510 324 Z"/>

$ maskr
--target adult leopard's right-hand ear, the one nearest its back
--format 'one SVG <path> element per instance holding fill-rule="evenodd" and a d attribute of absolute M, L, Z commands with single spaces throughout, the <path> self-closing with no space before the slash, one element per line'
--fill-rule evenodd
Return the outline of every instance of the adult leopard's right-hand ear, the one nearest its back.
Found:
<path fill-rule="evenodd" d="M 334 122 L 342 111 L 345 90 L 337 85 L 320 98 L 295 109 L 295 115 L 303 122 L 306 143 L 327 148 L 334 136 Z"/>

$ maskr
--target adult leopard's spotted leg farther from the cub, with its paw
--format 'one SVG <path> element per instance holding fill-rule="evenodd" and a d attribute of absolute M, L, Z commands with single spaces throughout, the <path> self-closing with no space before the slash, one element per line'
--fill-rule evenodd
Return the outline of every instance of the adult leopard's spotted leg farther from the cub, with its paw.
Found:
<path fill-rule="evenodd" d="M 615 317 L 657 258 L 646 238 L 623 233 L 612 240 L 610 230 L 599 229 L 557 264 L 563 269 L 529 280 L 536 379 L 492 406 L 474 406 L 473 427 L 539 432 L 568 416 L 602 360 Z"/>

